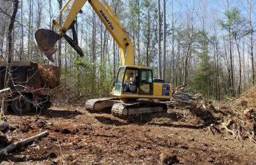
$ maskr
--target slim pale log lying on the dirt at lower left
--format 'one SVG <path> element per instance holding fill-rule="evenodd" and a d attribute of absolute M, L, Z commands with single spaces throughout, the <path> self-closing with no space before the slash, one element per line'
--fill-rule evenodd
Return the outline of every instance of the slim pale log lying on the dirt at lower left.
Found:
<path fill-rule="evenodd" d="M 25 145 L 29 144 L 30 142 L 38 140 L 42 137 L 46 137 L 47 135 L 49 135 L 48 131 L 44 131 L 42 133 L 39 133 L 38 135 L 28 137 L 27 139 L 24 139 L 24 140 L 20 140 L 19 142 L 14 142 L 14 143 L 10 144 L 9 146 L 7 146 L 6 148 L 3 148 L 0 151 L 0 156 L 7 155 L 8 153 L 10 153 L 10 151 L 14 150 L 15 148 L 25 146 Z"/>

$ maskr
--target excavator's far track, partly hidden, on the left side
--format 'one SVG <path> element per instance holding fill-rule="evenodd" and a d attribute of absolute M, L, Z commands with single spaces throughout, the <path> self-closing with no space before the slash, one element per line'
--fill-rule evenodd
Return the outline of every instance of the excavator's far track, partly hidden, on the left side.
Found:
<path fill-rule="evenodd" d="M 119 98 L 90 99 L 85 103 L 85 109 L 92 113 L 110 111 L 116 102 L 120 102 Z"/>

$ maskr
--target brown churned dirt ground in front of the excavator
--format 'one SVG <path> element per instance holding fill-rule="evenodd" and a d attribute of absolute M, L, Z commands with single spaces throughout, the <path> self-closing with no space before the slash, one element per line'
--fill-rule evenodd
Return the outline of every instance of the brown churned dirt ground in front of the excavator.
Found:
<path fill-rule="evenodd" d="M 0 164 L 161 164 L 161 153 L 177 155 L 178 164 L 256 164 L 256 144 L 213 135 L 186 113 L 169 109 L 131 122 L 61 105 L 40 115 L 9 116 L 17 130 L 6 134 L 14 141 L 50 135 L 0 158 Z"/>

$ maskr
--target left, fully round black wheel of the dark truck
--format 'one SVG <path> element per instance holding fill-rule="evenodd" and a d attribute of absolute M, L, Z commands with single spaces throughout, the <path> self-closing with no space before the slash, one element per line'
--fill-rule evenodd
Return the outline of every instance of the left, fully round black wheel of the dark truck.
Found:
<path fill-rule="evenodd" d="M 17 96 L 12 100 L 11 103 L 12 111 L 16 115 L 23 115 L 25 113 L 30 113 L 33 110 L 32 103 L 28 96 Z"/>

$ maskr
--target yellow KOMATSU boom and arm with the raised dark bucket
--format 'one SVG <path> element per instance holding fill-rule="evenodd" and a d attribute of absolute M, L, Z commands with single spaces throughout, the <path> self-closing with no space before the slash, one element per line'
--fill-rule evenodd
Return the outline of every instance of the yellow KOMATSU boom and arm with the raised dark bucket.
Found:
<path fill-rule="evenodd" d="M 74 40 L 72 40 L 69 36 L 67 36 L 65 32 L 67 32 L 67 30 L 70 29 L 70 27 L 74 22 L 74 19 L 76 18 L 77 14 L 81 12 L 81 9 L 83 8 L 83 5 L 85 5 L 86 1 L 87 0 L 74 0 L 72 3 L 72 0 L 68 0 L 67 3 L 63 6 L 59 14 L 64 12 L 67 9 L 67 6 L 70 5 L 70 3 L 72 3 L 70 12 L 67 14 L 67 17 L 63 25 L 58 23 L 56 19 L 53 20 L 53 24 L 56 26 L 56 28 L 60 30 L 60 34 L 55 34 L 54 36 L 50 34 L 50 33 L 53 33 L 52 30 L 39 30 L 38 35 L 36 35 L 36 43 L 39 46 L 39 50 L 41 50 L 42 52 L 50 52 L 50 54 L 53 54 L 52 51 L 50 50 L 52 49 L 52 47 L 54 47 L 54 44 L 56 43 L 56 41 L 58 41 L 58 39 L 61 39 L 61 37 L 64 36 L 67 42 L 70 43 L 72 47 L 74 47 L 76 52 L 78 52 L 78 54 L 81 54 L 81 51 L 82 51 L 81 48 L 78 47 L 76 42 L 74 42 Z M 103 3 L 101 3 L 100 0 L 88 0 L 88 1 L 89 1 L 89 4 L 92 6 L 94 12 L 96 12 L 100 20 L 103 22 L 103 24 L 107 28 L 108 32 L 111 34 L 111 36 L 113 36 L 114 40 L 118 44 L 121 52 L 122 65 L 123 66 L 134 65 L 134 45 L 131 43 L 131 39 L 127 34 L 125 28 L 122 27 L 122 25 L 116 18 L 116 15 L 111 10 L 107 2 L 104 1 Z M 49 36 L 49 37 L 46 37 L 46 36 Z M 48 46 L 42 49 L 42 47 L 44 46 L 43 44 L 45 43 L 47 43 Z"/>

